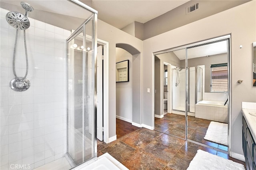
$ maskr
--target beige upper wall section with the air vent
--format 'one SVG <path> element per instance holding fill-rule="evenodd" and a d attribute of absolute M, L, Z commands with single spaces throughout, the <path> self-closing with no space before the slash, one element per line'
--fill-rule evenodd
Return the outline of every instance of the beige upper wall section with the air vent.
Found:
<path fill-rule="evenodd" d="M 199 9 L 186 14 L 186 7 L 199 2 Z M 153 36 L 168 32 L 180 26 L 206 18 L 223 10 L 247 2 L 246 0 L 190 0 L 185 4 L 174 8 L 146 23 L 144 23 L 144 37 L 146 40 Z M 191 32 L 190 32 L 191 33 Z"/>

